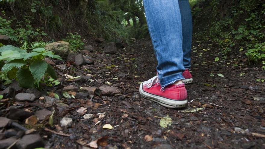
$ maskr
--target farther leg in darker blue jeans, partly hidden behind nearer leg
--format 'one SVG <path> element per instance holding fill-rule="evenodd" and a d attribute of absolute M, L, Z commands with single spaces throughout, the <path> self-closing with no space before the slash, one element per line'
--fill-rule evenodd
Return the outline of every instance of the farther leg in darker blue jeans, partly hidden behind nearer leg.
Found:
<path fill-rule="evenodd" d="M 192 13 L 189 6 L 189 0 L 178 0 L 178 2 L 182 22 L 183 65 L 185 68 L 190 69 L 192 48 Z"/>

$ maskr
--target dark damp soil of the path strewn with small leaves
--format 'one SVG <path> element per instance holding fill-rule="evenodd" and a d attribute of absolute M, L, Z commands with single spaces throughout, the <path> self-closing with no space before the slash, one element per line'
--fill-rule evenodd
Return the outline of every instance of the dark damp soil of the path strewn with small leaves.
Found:
<path fill-rule="evenodd" d="M 120 93 L 92 99 L 63 98 L 69 107 L 63 110 L 58 110 L 56 105 L 48 108 L 55 109 L 54 126 L 49 126 L 46 120 L 41 125 L 38 122 L 27 128 L 37 130 L 46 148 L 85 149 L 90 148 L 93 141 L 97 142 L 98 148 L 265 148 L 265 84 L 256 81 L 265 79 L 264 70 L 239 55 L 223 59 L 220 52 L 218 45 L 194 39 L 191 71 L 194 82 L 186 85 L 189 105 L 184 109 L 171 109 L 139 95 L 138 83 L 156 75 L 157 63 L 149 39 L 137 40 L 113 55 L 104 54 L 98 47 L 89 54 L 95 59 L 94 64 L 86 68 L 67 66 L 64 72 L 57 70 L 59 76 L 92 74 L 92 82 L 65 81 L 61 86 L 46 90 L 60 91 L 67 85 L 114 85 Z M 220 57 L 217 62 L 216 57 Z M 217 76 L 220 73 L 224 77 Z M 43 100 L 34 103 L 18 104 L 10 99 L 0 106 L 2 111 L 12 104 L 32 113 L 43 109 Z M 76 112 L 82 106 L 87 108 L 85 114 L 93 114 L 91 119 L 85 120 Z M 196 108 L 204 109 L 192 113 L 181 111 Z M 5 114 L 2 112 L 1 116 Z M 95 118 L 100 114 L 105 117 L 98 119 L 101 122 L 95 125 Z M 160 120 L 167 115 L 172 124 L 163 128 Z M 67 128 L 60 127 L 64 116 L 73 120 Z M 20 124 L 26 126 L 24 122 Z M 102 129 L 104 124 L 114 128 Z M 70 136 L 45 131 L 44 127 Z"/>

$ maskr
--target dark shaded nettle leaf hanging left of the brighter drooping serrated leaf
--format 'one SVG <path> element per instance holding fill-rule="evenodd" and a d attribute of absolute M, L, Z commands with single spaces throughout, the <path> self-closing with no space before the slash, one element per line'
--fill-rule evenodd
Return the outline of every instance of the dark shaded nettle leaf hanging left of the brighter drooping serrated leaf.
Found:
<path fill-rule="evenodd" d="M 24 88 L 33 88 L 34 79 L 30 73 L 29 68 L 23 68 L 17 71 L 17 79 L 18 83 L 21 87 Z"/>

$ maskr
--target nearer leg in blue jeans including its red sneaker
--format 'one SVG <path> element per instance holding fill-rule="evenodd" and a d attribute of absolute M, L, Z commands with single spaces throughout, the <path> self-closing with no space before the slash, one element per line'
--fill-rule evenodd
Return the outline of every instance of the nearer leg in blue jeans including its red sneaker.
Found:
<path fill-rule="evenodd" d="M 165 107 L 186 107 L 187 91 L 182 80 L 182 25 L 178 0 L 144 0 L 145 16 L 157 58 L 157 74 L 142 82 L 144 98 Z"/>

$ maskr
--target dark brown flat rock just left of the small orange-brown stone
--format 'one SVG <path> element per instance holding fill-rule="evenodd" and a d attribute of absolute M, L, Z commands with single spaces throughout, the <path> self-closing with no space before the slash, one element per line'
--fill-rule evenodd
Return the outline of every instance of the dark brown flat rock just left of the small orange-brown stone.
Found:
<path fill-rule="evenodd" d="M 16 109 L 16 108 L 10 108 L 9 112 L 8 112 L 8 118 L 12 119 L 12 120 L 19 120 L 19 121 L 23 121 L 26 118 L 32 116 L 32 114 L 30 112 L 24 111 L 24 110 L 20 110 L 20 109 Z"/>

